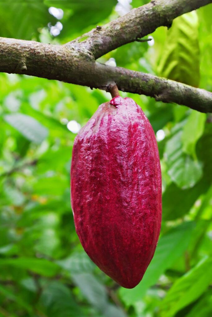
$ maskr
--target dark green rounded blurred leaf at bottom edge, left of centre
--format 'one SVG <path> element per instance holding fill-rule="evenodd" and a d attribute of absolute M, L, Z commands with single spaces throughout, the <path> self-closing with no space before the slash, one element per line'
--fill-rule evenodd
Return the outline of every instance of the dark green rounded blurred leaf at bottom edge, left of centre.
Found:
<path fill-rule="evenodd" d="M 85 316 L 70 289 L 59 281 L 47 284 L 41 294 L 40 303 L 45 307 L 48 317 Z"/>

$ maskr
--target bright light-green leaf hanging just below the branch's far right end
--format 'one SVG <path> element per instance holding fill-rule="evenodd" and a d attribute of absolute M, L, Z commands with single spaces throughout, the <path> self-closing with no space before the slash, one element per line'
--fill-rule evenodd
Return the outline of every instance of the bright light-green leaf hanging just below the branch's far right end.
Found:
<path fill-rule="evenodd" d="M 192 110 L 191 114 L 188 117 L 186 124 L 182 130 L 182 150 L 196 157 L 195 146 L 198 139 L 202 136 L 204 132 L 206 113 L 201 113 L 195 110 Z"/>

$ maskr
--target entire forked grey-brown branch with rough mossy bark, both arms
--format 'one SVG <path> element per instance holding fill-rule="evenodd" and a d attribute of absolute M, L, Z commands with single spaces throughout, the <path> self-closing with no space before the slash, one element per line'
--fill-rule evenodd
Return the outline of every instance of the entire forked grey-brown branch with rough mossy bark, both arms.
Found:
<path fill-rule="evenodd" d="M 185 12 L 212 0 L 155 0 L 65 45 L 50 45 L 0 37 L 0 71 L 110 91 L 145 94 L 201 112 L 212 112 L 212 93 L 179 82 L 110 67 L 95 61 L 101 55 L 153 32 Z"/>

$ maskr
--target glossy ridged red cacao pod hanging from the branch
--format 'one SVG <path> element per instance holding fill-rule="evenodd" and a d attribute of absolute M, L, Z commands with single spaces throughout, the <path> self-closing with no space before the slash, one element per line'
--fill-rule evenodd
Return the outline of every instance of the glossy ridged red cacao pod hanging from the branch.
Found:
<path fill-rule="evenodd" d="M 100 105 L 76 136 L 71 202 L 92 261 L 121 286 L 135 287 L 161 229 L 161 168 L 152 126 L 132 99 Z"/>

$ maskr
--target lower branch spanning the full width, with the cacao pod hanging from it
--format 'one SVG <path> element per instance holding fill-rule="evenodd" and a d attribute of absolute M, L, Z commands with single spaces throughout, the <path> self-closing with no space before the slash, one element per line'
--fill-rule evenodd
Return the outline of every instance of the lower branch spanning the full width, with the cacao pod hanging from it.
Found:
<path fill-rule="evenodd" d="M 23 67 L 24 65 L 24 67 Z M 201 112 L 212 112 L 212 93 L 151 74 L 107 66 L 66 46 L 0 37 L 0 71 L 65 81 L 109 91 L 145 94 Z"/>

